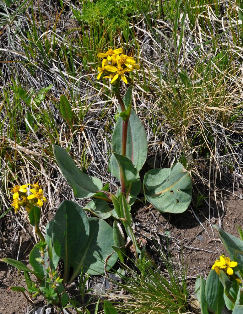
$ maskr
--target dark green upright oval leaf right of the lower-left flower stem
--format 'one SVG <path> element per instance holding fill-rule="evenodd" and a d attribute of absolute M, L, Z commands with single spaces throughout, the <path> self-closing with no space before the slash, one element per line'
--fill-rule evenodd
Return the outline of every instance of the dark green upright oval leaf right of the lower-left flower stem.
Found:
<path fill-rule="evenodd" d="M 55 252 L 64 261 L 64 281 L 67 281 L 73 256 L 85 245 L 89 237 L 89 220 L 78 204 L 63 201 L 57 208 L 52 228 Z"/>

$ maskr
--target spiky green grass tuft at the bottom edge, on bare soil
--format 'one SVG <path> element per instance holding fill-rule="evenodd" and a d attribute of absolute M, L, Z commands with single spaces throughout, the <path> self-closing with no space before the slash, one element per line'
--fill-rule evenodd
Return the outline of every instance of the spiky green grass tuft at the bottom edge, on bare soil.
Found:
<path fill-rule="evenodd" d="M 158 258 L 165 265 L 166 271 L 158 268 L 151 257 L 146 256 L 132 261 L 132 266 L 124 265 L 126 275 L 120 275 L 122 283 L 119 285 L 126 292 L 124 302 L 114 303 L 118 313 L 134 314 L 176 314 L 188 313 L 187 267 L 181 257 L 181 265 L 166 254 L 157 251 Z M 123 299 L 119 295 L 119 298 Z M 104 310 L 107 306 L 104 302 Z M 112 307 L 111 304 L 109 304 Z M 111 311 L 113 313 L 113 311 Z M 115 313 L 114 313 L 115 314 Z"/>

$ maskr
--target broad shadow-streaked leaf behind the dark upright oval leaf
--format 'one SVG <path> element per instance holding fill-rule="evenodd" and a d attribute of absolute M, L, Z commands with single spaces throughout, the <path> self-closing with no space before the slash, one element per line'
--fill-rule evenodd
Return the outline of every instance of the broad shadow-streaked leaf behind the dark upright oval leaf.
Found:
<path fill-rule="evenodd" d="M 104 273 L 105 259 L 114 251 L 111 245 L 114 245 L 112 227 L 102 219 L 89 217 L 89 239 L 84 248 L 76 254 L 71 262 L 74 268 L 71 281 L 75 279 L 81 268 L 86 273 L 96 275 Z M 108 260 L 107 270 L 109 270 L 117 260 L 117 254 L 114 253 Z"/>

